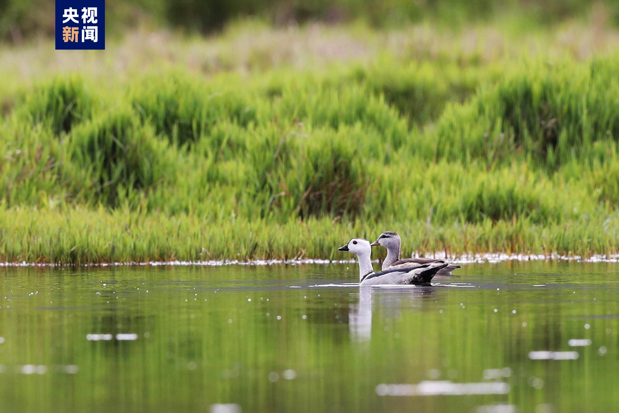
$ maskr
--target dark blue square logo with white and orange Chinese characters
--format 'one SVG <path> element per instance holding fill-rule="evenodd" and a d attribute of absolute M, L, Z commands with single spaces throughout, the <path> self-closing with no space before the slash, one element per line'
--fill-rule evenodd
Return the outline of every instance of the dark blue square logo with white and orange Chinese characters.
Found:
<path fill-rule="evenodd" d="M 105 0 L 56 0 L 56 50 L 105 49 Z"/>

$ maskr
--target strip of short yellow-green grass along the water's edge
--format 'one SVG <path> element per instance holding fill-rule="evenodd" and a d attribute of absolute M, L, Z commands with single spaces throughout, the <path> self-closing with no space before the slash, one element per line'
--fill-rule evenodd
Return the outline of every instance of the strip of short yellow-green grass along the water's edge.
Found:
<path fill-rule="evenodd" d="M 113 263 L 204 261 L 210 259 L 350 259 L 335 249 L 351 237 L 376 238 L 397 228 L 409 253 L 465 254 L 470 251 L 562 255 L 617 251 L 619 215 L 588 222 L 537 225 L 526 219 L 446 225 L 424 222 L 334 224 L 331 219 L 233 219 L 209 221 L 196 215 L 139 214 L 76 208 L 69 211 L 1 211 L 1 261 L 28 263 Z M 379 258 L 384 251 L 374 251 Z"/>

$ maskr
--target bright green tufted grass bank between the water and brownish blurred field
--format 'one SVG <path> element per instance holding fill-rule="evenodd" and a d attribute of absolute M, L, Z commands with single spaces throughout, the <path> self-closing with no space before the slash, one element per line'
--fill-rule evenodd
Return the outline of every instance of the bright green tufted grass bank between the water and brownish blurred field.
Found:
<path fill-rule="evenodd" d="M 190 63 L 105 87 L 87 68 L 115 56 L 92 54 L 80 76 L 5 94 L 0 259 L 328 257 L 387 229 L 420 251 L 616 252 L 614 36 L 584 61 L 439 38 L 419 54 L 364 49 L 371 63 L 288 57 L 243 75 L 237 61 L 207 79 Z M 198 44 L 163 41 L 185 50 L 162 61 Z"/>

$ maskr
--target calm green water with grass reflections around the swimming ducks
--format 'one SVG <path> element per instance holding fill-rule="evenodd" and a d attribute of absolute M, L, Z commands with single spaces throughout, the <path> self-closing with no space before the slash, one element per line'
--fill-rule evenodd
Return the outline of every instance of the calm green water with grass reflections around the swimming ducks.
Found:
<path fill-rule="evenodd" d="M 5 268 L 0 411 L 611 412 L 618 265 Z"/>

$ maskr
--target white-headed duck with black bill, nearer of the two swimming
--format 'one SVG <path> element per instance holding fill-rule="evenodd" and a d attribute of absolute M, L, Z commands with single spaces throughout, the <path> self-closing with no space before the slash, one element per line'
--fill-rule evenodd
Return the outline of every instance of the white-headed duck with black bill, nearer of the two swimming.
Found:
<path fill-rule="evenodd" d="M 372 247 L 365 238 L 353 238 L 337 251 L 348 251 L 359 260 L 359 285 L 376 284 L 430 284 L 435 274 L 448 266 L 444 262 L 433 262 L 409 267 L 398 267 L 374 272 L 370 259 Z"/>

